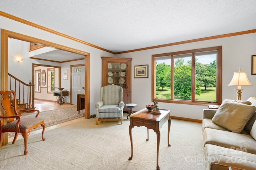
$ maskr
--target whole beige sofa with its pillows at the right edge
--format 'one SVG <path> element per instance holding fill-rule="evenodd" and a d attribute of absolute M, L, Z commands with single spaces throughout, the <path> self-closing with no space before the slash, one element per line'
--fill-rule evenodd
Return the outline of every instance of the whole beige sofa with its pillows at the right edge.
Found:
<path fill-rule="evenodd" d="M 256 170 L 256 98 L 203 110 L 206 170 Z"/>

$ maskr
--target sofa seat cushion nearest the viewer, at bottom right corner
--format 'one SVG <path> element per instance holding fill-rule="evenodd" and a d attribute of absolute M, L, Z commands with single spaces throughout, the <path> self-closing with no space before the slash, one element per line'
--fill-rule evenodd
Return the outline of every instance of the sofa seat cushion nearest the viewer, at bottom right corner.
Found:
<path fill-rule="evenodd" d="M 256 154 L 241 150 L 228 149 L 216 145 L 204 146 L 206 170 L 228 170 L 228 167 L 255 170 Z"/>

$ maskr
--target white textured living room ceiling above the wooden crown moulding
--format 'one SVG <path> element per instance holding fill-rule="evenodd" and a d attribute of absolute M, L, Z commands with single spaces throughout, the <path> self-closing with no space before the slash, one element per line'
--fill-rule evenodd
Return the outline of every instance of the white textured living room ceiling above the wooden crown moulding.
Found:
<path fill-rule="evenodd" d="M 256 29 L 256 0 L 1 0 L 0 10 L 120 52 Z"/>

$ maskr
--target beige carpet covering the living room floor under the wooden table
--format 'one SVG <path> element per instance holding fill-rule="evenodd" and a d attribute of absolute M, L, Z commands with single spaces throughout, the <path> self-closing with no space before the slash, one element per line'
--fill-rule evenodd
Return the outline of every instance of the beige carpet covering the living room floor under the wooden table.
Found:
<path fill-rule="evenodd" d="M 134 127 L 133 159 L 128 127 L 117 121 L 100 122 L 95 118 L 80 121 L 28 137 L 28 155 L 24 141 L 17 140 L 0 149 L 0 169 L 4 170 L 154 170 L 156 169 L 156 133 Z M 170 144 L 166 122 L 161 129 L 159 166 L 162 170 L 204 170 L 202 124 L 172 119 Z"/>

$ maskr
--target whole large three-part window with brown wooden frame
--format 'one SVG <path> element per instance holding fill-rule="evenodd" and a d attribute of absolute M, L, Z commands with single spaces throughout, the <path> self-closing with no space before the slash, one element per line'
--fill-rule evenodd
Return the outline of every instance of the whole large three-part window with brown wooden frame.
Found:
<path fill-rule="evenodd" d="M 152 100 L 221 104 L 222 46 L 152 55 Z M 168 74 L 162 71 L 168 65 Z M 168 75 L 168 76 L 165 76 Z M 166 78 L 166 79 L 164 79 Z M 168 78 L 169 84 L 164 84 Z"/>

